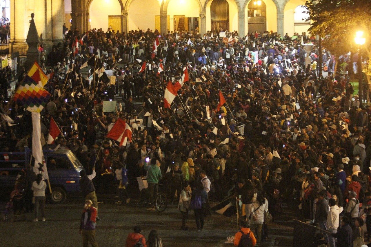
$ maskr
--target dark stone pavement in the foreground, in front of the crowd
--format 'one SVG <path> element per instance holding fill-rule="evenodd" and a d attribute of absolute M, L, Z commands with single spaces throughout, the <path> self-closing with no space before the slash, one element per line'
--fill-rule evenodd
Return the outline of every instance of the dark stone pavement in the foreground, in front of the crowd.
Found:
<path fill-rule="evenodd" d="M 96 237 L 99 246 L 125 246 L 128 233 L 135 225 L 142 228 L 148 237 L 152 229 L 158 231 L 164 246 L 233 246 L 224 244 L 228 236 L 237 231 L 236 218 L 213 213 L 205 218 L 205 230 L 196 231 L 193 212 L 190 213 L 188 231 L 180 230 L 181 215 L 175 206 L 168 207 L 163 213 L 147 211 L 138 207 L 137 200 L 129 204 L 116 205 L 116 198 L 98 195 L 99 215 Z M 0 207 L 3 208 L 4 201 Z M 0 246 L 81 246 L 78 234 L 79 218 L 82 213 L 82 198 L 68 198 L 61 205 L 46 205 L 46 220 L 32 222 L 33 214 L 27 214 L 21 222 L 2 221 L 0 224 Z M 262 246 L 292 246 L 292 216 L 290 210 L 279 215 L 275 223 L 269 223 L 269 240 Z"/>

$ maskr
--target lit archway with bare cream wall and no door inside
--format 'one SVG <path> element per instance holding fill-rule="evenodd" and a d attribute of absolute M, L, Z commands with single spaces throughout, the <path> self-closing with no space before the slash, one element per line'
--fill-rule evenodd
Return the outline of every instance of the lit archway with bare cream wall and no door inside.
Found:
<path fill-rule="evenodd" d="M 132 0 L 129 2 L 128 9 L 128 30 L 147 29 L 160 30 L 156 27 L 157 19 L 160 22 L 160 4 L 157 0 Z M 159 24 L 159 23 L 158 23 Z"/>

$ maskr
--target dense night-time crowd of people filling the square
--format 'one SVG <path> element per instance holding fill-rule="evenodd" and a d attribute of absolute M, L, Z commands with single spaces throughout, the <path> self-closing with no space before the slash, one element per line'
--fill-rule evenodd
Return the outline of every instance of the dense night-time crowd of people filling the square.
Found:
<path fill-rule="evenodd" d="M 311 53 L 306 43 L 314 44 Z M 137 177 L 147 177 L 148 209 L 154 210 L 157 184 L 164 184 L 183 230 L 191 209 L 203 230 L 210 202 L 237 197 L 243 220 L 234 245 L 259 246 L 268 239 L 267 221 L 282 212 L 282 198 L 293 198 L 298 216 L 323 230 L 319 240 L 350 246 L 371 238 L 371 109 L 349 77 L 334 71 L 335 57 L 325 49 L 322 54 L 326 76 L 319 71 L 317 41 L 305 33 L 66 30 L 64 42 L 47 55 L 52 98 L 42 123 L 47 129 L 53 117 L 64 133 L 56 143 L 85 167 L 85 211 L 96 210 L 86 215 L 98 215 L 95 190 L 117 191 L 117 204 L 129 203 L 125 188 L 137 190 Z M 92 74 L 98 72 L 85 78 L 80 67 L 92 57 Z M 166 85 L 182 80 L 185 69 L 189 79 L 166 108 Z M 107 70 L 114 71 L 115 83 L 106 80 Z M 103 102 L 117 94 L 122 110 L 103 112 Z M 133 99 L 142 100 L 142 111 Z M 30 114 L 15 102 L 1 103 L 16 123 L 1 125 L 1 149 L 31 146 Z M 126 146 L 105 138 L 119 118 L 131 127 Z M 362 214 L 367 233 L 359 228 Z M 132 238 L 144 241 L 139 233 L 136 227 Z M 95 235 L 83 236 L 94 242 Z"/>

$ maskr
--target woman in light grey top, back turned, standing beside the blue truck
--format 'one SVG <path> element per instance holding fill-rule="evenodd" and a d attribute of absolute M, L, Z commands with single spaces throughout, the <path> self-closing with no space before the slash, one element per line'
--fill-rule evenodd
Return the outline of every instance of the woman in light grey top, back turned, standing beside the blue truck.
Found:
<path fill-rule="evenodd" d="M 35 218 L 33 222 L 39 221 L 37 216 L 39 213 L 39 207 L 41 210 L 42 221 L 45 221 L 45 189 L 46 189 L 46 182 L 43 181 L 43 175 L 37 174 L 36 181 L 32 184 L 32 191 L 33 196 L 35 197 Z"/>

